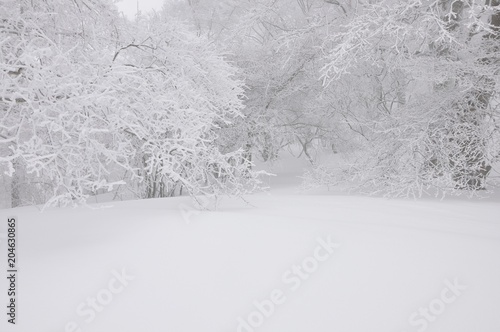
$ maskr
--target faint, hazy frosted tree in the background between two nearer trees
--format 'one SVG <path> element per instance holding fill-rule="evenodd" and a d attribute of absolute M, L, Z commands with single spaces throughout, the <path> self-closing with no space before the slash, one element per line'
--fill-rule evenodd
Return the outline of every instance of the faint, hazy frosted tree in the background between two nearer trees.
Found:
<path fill-rule="evenodd" d="M 329 15 L 341 7 L 323 1 L 176 1 L 166 10 L 192 22 L 240 69 L 245 82 L 245 118 L 225 127 L 221 144 L 239 142 L 248 154 L 275 159 L 280 149 L 314 140 L 333 141 L 329 95 L 318 80 L 320 45 Z M 326 97 L 326 98 L 325 98 Z"/>

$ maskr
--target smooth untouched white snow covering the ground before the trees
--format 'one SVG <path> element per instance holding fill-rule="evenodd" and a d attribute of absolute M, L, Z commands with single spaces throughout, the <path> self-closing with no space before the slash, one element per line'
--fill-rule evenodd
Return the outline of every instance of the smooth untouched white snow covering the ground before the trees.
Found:
<path fill-rule="evenodd" d="M 0 233 L 19 220 L 20 271 L 0 331 L 500 331 L 500 197 L 304 195 L 303 166 L 215 212 L 185 197 L 0 210 Z"/>

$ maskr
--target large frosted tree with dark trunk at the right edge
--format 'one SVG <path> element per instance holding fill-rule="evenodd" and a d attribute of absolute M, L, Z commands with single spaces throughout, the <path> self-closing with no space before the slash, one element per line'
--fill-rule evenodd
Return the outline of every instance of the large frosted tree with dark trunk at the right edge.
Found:
<path fill-rule="evenodd" d="M 361 148 L 309 180 L 390 196 L 485 188 L 500 153 L 500 3 L 359 2 L 335 29 L 323 82 L 353 87 L 340 112 Z"/>

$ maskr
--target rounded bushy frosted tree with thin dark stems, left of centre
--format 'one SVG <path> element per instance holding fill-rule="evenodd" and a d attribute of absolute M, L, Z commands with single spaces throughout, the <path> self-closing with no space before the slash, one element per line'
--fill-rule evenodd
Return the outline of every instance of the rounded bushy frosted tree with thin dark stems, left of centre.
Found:
<path fill-rule="evenodd" d="M 138 144 L 135 160 L 146 195 L 253 189 L 257 180 L 242 146 L 223 150 L 218 145 L 220 128 L 242 116 L 236 69 L 181 24 L 169 25 L 159 15 L 146 23 L 141 34 L 131 34 L 142 42 L 124 44 L 115 54 L 115 61 L 133 73 L 126 86 L 145 88 L 128 92 L 130 100 L 120 108 L 124 113 L 116 116 Z"/>

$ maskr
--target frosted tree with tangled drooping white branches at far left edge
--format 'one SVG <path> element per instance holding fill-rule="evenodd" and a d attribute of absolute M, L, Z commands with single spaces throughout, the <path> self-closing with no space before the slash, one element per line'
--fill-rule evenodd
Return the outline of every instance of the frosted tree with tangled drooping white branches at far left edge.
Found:
<path fill-rule="evenodd" d="M 0 15 L 0 163 L 12 206 L 106 186 L 96 174 L 119 152 L 100 149 L 107 129 L 95 105 L 100 59 L 116 40 L 111 4 L 4 1 Z"/>

